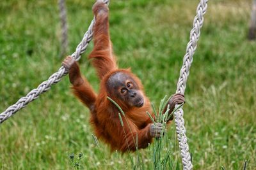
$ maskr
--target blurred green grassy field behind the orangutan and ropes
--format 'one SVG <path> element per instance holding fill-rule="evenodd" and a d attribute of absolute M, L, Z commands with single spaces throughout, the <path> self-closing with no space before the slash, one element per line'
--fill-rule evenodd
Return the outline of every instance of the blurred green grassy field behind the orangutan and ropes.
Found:
<path fill-rule="evenodd" d="M 175 92 L 197 3 L 111 1 L 110 29 L 119 66 L 132 67 L 156 105 Z M 57 4 L 0 2 L 0 112 L 61 66 Z M 92 20 L 92 5 L 93 0 L 67 2 L 69 54 Z M 256 169 L 256 42 L 246 39 L 250 10 L 251 1 L 209 2 L 184 105 L 194 169 L 242 169 L 245 160 L 248 169 Z M 91 50 L 92 44 L 80 64 L 97 90 L 99 80 L 87 60 Z M 63 78 L 1 124 L 0 169 L 71 169 L 69 153 L 80 152 L 84 169 L 131 169 L 129 155 L 110 153 L 102 142 L 95 145 L 88 109 L 69 86 Z M 174 124 L 168 136 L 173 162 L 180 162 Z M 144 169 L 151 169 L 151 150 L 140 154 Z"/>

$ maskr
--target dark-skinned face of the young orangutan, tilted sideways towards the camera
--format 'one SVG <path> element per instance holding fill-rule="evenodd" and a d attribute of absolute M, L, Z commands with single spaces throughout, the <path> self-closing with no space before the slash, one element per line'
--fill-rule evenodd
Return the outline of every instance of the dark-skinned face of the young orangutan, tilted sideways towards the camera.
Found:
<path fill-rule="evenodd" d="M 117 72 L 108 79 L 108 90 L 111 96 L 123 101 L 127 106 L 142 107 L 144 97 L 137 83 L 126 73 Z"/>

